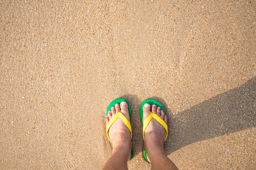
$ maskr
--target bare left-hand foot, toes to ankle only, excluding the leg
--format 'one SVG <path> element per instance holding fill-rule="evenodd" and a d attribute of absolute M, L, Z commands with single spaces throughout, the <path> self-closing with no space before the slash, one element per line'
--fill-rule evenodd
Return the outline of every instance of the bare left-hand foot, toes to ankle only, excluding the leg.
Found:
<path fill-rule="evenodd" d="M 109 120 L 116 113 L 122 110 L 123 115 L 130 121 L 128 105 L 125 101 L 122 103 L 115 104 L 115 107 L 111 108 L 111 111 L 108 112 L 108 116 L 106 117 L 106 124 L 108 124 Z M 113 150 L 112 152 L 122 152 L 125 157 L 127 157 L 127 161 L 131 157 L 131 132 L 129 131 L 128 127 L 124 124 L 124 122 L 117 118 L 116 121 L 111 125 L 108 131 L 109 138 L 111 139 Z"/>

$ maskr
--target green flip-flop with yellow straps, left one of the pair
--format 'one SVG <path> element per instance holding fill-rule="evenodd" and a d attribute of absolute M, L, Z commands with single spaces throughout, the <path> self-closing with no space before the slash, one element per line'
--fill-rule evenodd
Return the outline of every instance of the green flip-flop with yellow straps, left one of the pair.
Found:
<path fill-rule="evenodd" d="M 119 104 L 122 102 L 122 101 L 125 101 L 128 105 L 128 111 L 129 111 L 129 116 L 130 116 L 130 121 L 132 120 L 132 112 L 131 112 L 131 106 L 129 104 L 129 102 L 125 99 L 122 99 L 122 98 L 118 98 L 118 99 L 115 99 L 113 100 L 109 105 L 108 105 L 108 108 L 107 108 L 107 111 L 106 111 L 106 115 L 108 116 L 108 112 L 111 111 L 111 108 L 112 107 L 115 107 L 115 104 Z M 120 110 L 118 113 L 115 114 L 114 117 L 111 118 L 111 120 L 109 120 L 108 124 L 107 124 L 107 127 L 106 127 L 106 133 L 107 133 L 107 136 L 108 136 L 108 139 L 109 141 L 111 141 L 111 139 L 109 138 L 109 135 L 108 135 L 108 131 L 109 131 L 109 128 L 111 127 L 111 125 L 115 122 L 115 120 L 117 118 L 121 118 L 121 120 L 124 122 L 124 124 L 128 127 L 129 131 L 131 132 L 131 138 L 132 138 L 132 128 L 131 128 L 131 123 L 129 122 L 129 120 L 127 120 L 127 118 L 122 114 L 121 112 L 122 110 Z M 133 149 L 131 150 L 131 157 L 129 159 L 129 161 L 133 158 Z"/>

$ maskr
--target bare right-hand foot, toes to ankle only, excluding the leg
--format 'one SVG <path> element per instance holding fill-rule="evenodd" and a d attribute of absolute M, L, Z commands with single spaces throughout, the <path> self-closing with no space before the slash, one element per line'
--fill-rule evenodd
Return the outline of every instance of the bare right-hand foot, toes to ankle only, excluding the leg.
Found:
<path fill-rule="evenodd" d="M 167 124 L 167 117 L 164 115 L 164 111 L 157 107 L 155 104 L 152 105 L 152 113 L 155 113 L 161 117 Z M 143 106 L 143 122 L 150 114 L 150 104 L 146 103 Z M 152 120 L 147 125 L 144 132 L 145 149 L 147 152 L 147 159 L 150 161 L 150 157 L 154 156 L 154 153 L 160 152 L 164 153 L 164 138 L 166 136 L 166 131 L 163 125 L 159 124 L 157 120 L 152 118 Z M 149 157 L 149 158 L 148 158 Z"/>

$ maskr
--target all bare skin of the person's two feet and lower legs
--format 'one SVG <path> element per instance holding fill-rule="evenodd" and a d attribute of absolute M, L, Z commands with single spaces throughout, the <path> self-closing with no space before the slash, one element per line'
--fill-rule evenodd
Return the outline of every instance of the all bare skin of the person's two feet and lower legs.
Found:
<path fill-rule="evenodd" d="M 106 124 L 109 120 L 122 110 L 123 115 L 130 121 L 127 103 L 124 101 L 115 104 L 111 108 L 106 117 Z M 156 113 L 167 124 L 167 117 L 161 108 L 152 105 L 152 113 Z M 150 104 L 143 106 L 143 122 L 150 114 Z M 164 127 L 155 119 L 152 119 L 145 130 L 145 149 L 147 151 L 148 160 L 151 162 L 152 169 L 178 169 L 172 160 L 164 155 L 164 138 L 166 131 Z M 111 157 L 104 164 L 102 169 L 128 169 L 127 162 L 131 157 L 131 133 L 120 118 L 117 118 L 113 125 L 109 128 L 109 138 L 112 141 L 113 150 Z"/>

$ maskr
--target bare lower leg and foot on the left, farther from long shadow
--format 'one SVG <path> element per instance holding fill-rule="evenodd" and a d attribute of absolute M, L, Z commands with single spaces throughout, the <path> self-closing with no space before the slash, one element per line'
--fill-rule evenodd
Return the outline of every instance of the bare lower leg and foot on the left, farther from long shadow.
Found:
<path fill-rule="evenodd" d="M 108 117 L 106 117 L 107 124 L 120 111 L 120 108 L 124 116 L 130 120 L 128 105 L 123 101 L 120 103 L 120 106 L 116 104 L 115 107 L 111 108 Z M 109 157 L 102 169 L 128 169 L 127 162 L 131 157 L 132 147 L 131 133 L 120 118 L 117 118 L 115 123 L 109 128 L 109 138 L 112 141 L 113 150 L 111 157 Z"/>

